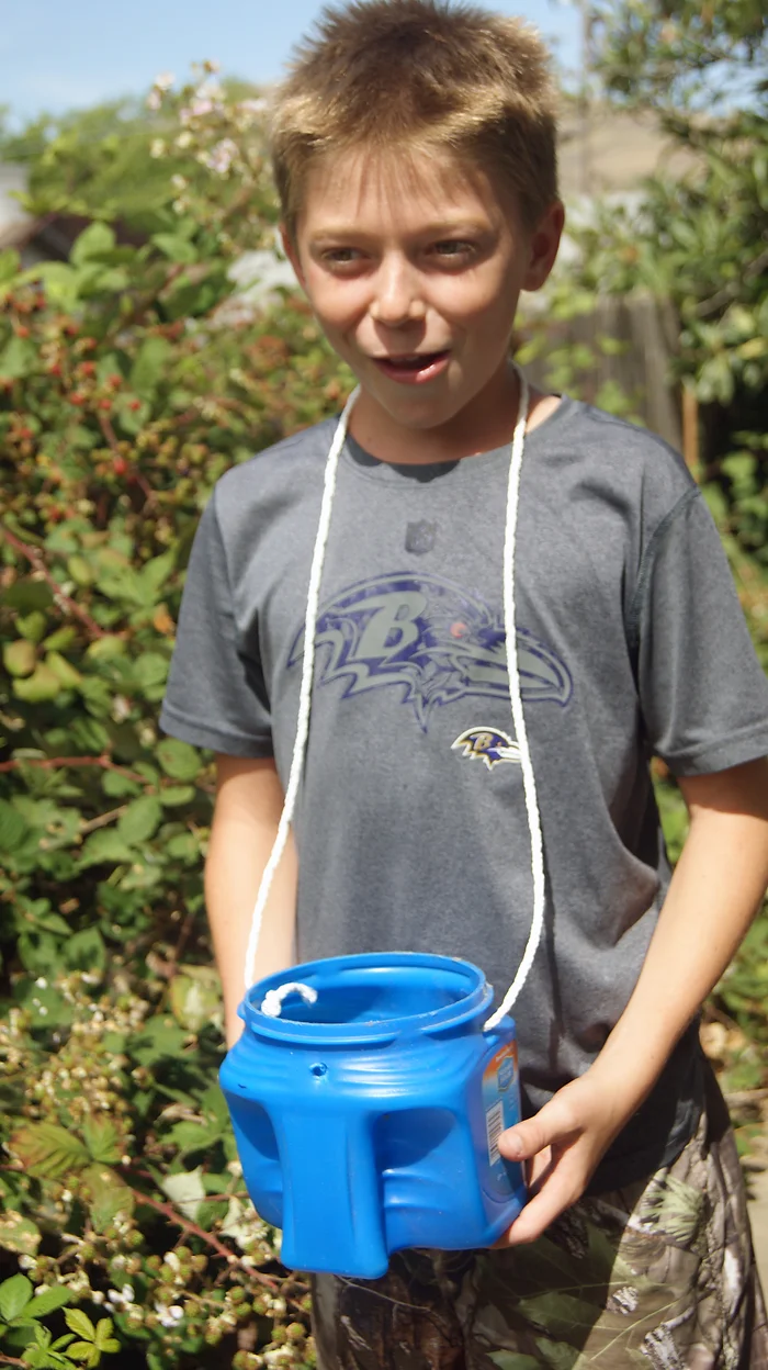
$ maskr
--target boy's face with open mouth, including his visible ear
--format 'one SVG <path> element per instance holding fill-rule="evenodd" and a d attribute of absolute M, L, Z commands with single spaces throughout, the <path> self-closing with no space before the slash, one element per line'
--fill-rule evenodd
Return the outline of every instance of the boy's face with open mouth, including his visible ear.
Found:
<path fill-rule="evenodd" d="M 508 348 L 520 290 L 543 285 L 563 227 L 534 230 L 448 155 L 366 152 L 311 169 L 286 251 L 334 349 L 389 433 L 509 406 Z M 368 422 L 368 427 L 370 427 Z M 465 425 L 461 425 L 465 426 Z"/>

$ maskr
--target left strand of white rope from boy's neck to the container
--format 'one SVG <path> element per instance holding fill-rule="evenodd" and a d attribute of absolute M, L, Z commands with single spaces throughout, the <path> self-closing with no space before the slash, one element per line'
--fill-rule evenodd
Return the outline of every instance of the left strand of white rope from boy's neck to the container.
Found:
<path fill-rule="evenodd" d="M 320 504 L 320 521 L 318 523 L 318 536 L 315 538 L 315 551 L 312 552 L 312 566 L 309 570 L 309 588 L 307 590 L 307 615 L 304 619 L 304 662 L 301 666 L 301 686 L 298 692 L 298 718 L 296 722 L 296 741 L 293 744 L 293 756 L 290 760 L 290 771 L 287 777 L 285 803 L 281 814 L 281 821 L 278 825 L 278 833 L 275 837 L 272 851 L 270 854 L 270 859 L 264 867 L 264 874 L 261 875 L 259 893 L 256 895 L 256 907 L 253 908 L 253 918 L 251 919 L 251 936 L 248 938 L 248 951 L 245 952 L 246 991 L 251 989 L 251 985 L 253 984 L 256 949 L 259 947 L 259 933 L 261 932 L 261 919 L 264 917 L 264 908 L 267 907 L 267 899 L 270 897 L 270 889 L 272 886 L 275 871 L 279 866 L 281 856 L 285 851 L 285 844 L 287 843 L 287 834 L 293 819 L 293 812 L 296 808 L 296 796 L 298 795 L 298 785 L 301 781 L 301 771 L 304 770 L 304 756 L 307 752 L 307 734 L 309 732 L 309 710 L 312 704 L 312 677 L 315 674 L 315 632 L 318 626 L 318 606 L 320 601 L 320 578 L 323 574 L 323 562 L 326 558 L 326 547 L 329 541 L 329 530 L 331 523 L 331 508 L 335 490 L 338 459 L 341 456 L 341 449 L 344 448 L 344 443 L 346 438 L 349 415 L 352 414 L 360 390 L 355 389 L 344 407 L 344 412 L 337 423 L 337 429 L 326 462 L 323 500 Z"/>

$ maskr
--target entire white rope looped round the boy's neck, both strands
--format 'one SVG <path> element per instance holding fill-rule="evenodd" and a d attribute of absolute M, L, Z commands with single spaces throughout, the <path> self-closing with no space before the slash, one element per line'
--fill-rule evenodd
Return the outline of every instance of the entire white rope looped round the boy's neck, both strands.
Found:
<path fill-rule="evenodd" d="M 517 408 L 517 421 L 515 425 L 515 433 L 512 437 L 512 453 L 509 460 L 509 484 L 507 490 L 507 523 L 504 536 L 504 629 L 507 637 L 507 670 L 509 675 L 509 701 L 512 706 L 512 721 L 515 723 L 515 734 L 517 747 L 520 749 L 520 769 L 523 773 L 523 792 L 526 800 L 526 815 L 528 819 L 528 829 L 531 836 L 531 874 L 534 886 L 534 910 L 531 919 L 531 930 L 528 933 L 528 940 L 526 943 L 526 949 L 523 952 L 523 959 L 517 967 L 515 980 L 512 981 L 502 1003 L 496 1010 L 494 1014 L 483 1023 L 483 1032 L 491 1032 L 505 1014 L 509 1012 L 517 995 L 520 993 L 528 971 L 533 966 L 534 956 L 541 941 L 541 934 L 543 929 L 543 914 L 545 914 L 545 870 L 543 870 L 543 840 L 541 830 L 541 815 L 537 800 L 537 786 L 534 767 L 531 762 L 531 752 L 528 747 L 528 736 L 526 732 L 526 718 L 523 714 L 523 697 L 520 686 L 520 671 L 517 664 L 517 630 L 515 618 L 515 547 L 517 536 L 517 506 L 520 496 L 520 473 L 523 466 L 523 449 L 526 443 L 526 427 L 528 422 L 528 403 L 530 403 L 530 388 L 526 377 L 522 371 L 517 371 L 520 382 L 520 403 Z M 338 421 L 334 438 L 329 451 L 326 474 L 323 484 L 323 499 L 320 504 L 320 519 L 318 525 L 318 536 L 315 538 L 315 549 L 312 553 L 312 566 L 309 571 L 309 588 L 307 592 L 307 614 L 304 619 L 304 662 L 301 670 L 301 686 L 298 695 L 298 718 L 296 723 L 296 740 L 293 744 L 293 756 L 290 762 L 290 771 L 287 778 L 287 786 L 285 793 L 283 810 L 281 814 L 281 821 L 278 825 L 278 833 L 270 859 L 264 867 L 264 874 L 261 875 L 261 882 L 259 885 L 259 893 L 256 896 L 256 907 L 253 908 L 253 918 L 251 922 L 251 936 L 248 938 L 248 951 L 245 955 L 245 989 L 251 989 L 253 984 L 256 951 L 259 945 L 259 933 L 261 930 L 261 919 L 264 917 L 264 908 L 267 906 L 267 899 L 270 897 L 270 889 L 272 885 L 274 874 L 281 862 L 285 845 L 287 841 L 287 834 L 290 823 L 293 819 L 293 812 L 296 808 L 296 797 L 298 795 L 298 785 L 301 782 L 301 773 L 304 769 L 304 758 L 307 752 L 307 737 L 309 732 L 309 711 L 312 701 L 312 678 L 315 671 L 315 634 L 318 627 L 318 607 L 320 599 L 320 578 L 323 574 L 323 562 L 326 555 L 326 547 L 329 541 L 330 519 L 333 508 L 333 497 L 335 492 L 335 477 L 338 470 L 338 459 L 346 440 L 346 429 L 349 425 L 349 415 L 357 400 L 359 389 L 353 390 L 349 396 L 344 412 Z M 293 989 L 290 986 L 279 986 L 277 992 Z M 282 1001 L 282 999 L 281 999 Z M 271 1008 L 270 1001 L 270 1008 Z"/>

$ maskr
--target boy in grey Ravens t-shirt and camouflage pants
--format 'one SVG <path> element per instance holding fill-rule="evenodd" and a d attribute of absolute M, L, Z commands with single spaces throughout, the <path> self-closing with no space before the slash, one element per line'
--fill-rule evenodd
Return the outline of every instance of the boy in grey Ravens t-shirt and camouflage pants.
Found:
<path fill-rule="evenodd" d="M 286 251 L 360 393 L 326 527 L 294 840 L 256 975 L 430 949 L 502 991 L 539 819 L 546 900 L 515 1008 L 530 1117 L 501 1143 L 528 1160 L 531 1200 L 493 1252 L 318 1278 L 320 1365 L 768 1366 L 695 1028 L 768 880 L 768 692 L 683 463 L 567 397 L 534 393 L 526 411 L 512 323 L 563 227 L 546 53 L 517 21 L 441 0 L 326 11 L 278 92 L 274 162 Z M 163 708 L 168 732 L 218 754 L 207 897 L 230 1041 L 334 432 L 218 485 Z M 652 752 L 691 815 L 672 878 Z"/>

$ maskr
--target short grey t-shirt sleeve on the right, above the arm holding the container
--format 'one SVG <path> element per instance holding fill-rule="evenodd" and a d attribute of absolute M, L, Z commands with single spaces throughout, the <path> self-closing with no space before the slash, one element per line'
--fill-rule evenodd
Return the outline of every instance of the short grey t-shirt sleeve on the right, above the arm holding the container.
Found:
<path fill-rule="evenodd" d="M 661 521 L 634 603 L 638 689 L 653 752 L 675 775 L 768 754 L 768 680 L 698 489 Z"/>

